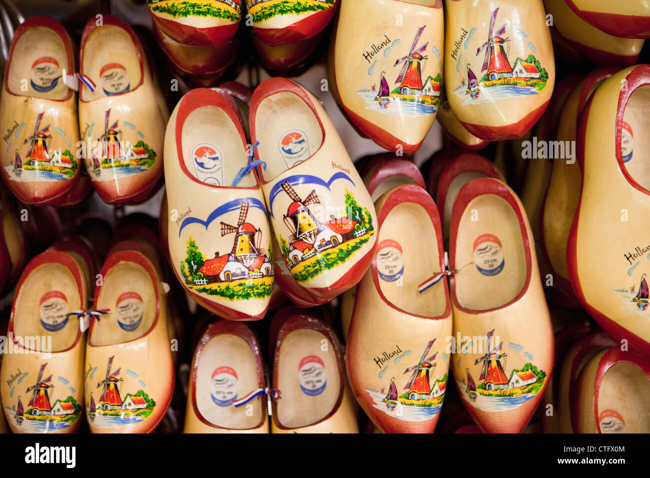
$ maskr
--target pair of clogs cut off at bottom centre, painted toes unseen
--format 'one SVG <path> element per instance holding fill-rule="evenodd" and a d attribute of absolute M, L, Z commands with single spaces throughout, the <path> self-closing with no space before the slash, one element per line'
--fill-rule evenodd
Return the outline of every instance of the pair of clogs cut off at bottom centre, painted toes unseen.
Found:
<path fill-rule="evenodd" d="M 324 321 L 296 308 L 270 325 L 272 382 L 244 323 L 217 321 L 194 352 L 185 433 L 357 433 L 341 345 Z M 270 400 L 267 402 L 267 400 Z"/>

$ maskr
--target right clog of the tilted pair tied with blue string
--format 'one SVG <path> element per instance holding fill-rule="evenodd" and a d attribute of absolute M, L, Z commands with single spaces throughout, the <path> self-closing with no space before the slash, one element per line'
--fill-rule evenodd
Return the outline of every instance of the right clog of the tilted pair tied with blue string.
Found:
<path fill-rule="evenodd" d="M 273 78 L 257 87 L 250 131 L 281 255 L 300 287 L 331 300 L 372 260 L 370 194 L 320 102 L 296 83 Z"/>

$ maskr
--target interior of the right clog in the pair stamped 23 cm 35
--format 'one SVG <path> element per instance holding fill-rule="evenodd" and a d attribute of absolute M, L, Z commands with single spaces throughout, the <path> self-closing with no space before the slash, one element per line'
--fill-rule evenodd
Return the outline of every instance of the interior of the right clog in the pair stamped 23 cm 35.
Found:
<path fill-rule="evenodd" d="M 482 237 L 486 241 L 475 245 Z M 496 237 L 500 246 L 487 237 Z M 456 295 L 464 308 L 500 307 L 523 289 L 526 254 L 521 228 L 514 209 L 500 196 L 483 194 L 465 207 L 458 224 L 455 267 L 465 265 L 455 276 Z"/>

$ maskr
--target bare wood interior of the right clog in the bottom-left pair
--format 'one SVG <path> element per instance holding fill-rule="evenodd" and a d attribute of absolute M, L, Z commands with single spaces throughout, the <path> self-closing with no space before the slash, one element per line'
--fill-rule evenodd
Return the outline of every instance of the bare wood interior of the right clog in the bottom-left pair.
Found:
<path fill-rule="evenodd" d="M 127 261 L 118 263 L 103 278 L 94 308 L 110 313 L 96 321 L 90 343 L 114 345 L 144 336 L 153 326 L 155 305 L 153 282 L 144 267 Z"/>

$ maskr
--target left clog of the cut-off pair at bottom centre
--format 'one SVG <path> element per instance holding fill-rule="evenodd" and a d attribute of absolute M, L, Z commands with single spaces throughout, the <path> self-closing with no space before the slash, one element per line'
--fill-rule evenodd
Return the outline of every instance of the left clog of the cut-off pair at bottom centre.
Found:
<path fill-rule="evenodd" d="M 185 433 L 268 433 L 257 339 L 246 324 L 217 321 L 194 352 Z"/>

